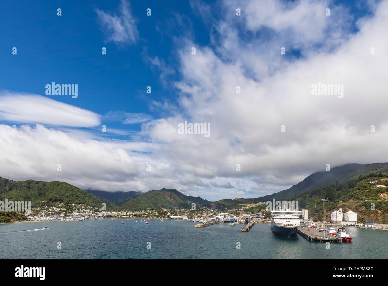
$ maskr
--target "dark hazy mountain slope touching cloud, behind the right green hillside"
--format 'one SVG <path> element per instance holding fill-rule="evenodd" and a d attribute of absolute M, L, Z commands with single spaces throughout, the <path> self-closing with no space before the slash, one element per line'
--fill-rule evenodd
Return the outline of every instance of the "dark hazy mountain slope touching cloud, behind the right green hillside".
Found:
<path fill-rule="evenodd" d="M 340 167 L 332 168 L 329 172 L 316 172 L 309 175 L 306 179 L 292 186 L 289 189 L 266 195 L 264 197 L 245 199 L 250 202 L 266 202 L 275 198 L 276 200 L 283 200 L 291 196 L 299 195 L 305 191 L 316 189 L 335 181 L 346 182 L 350 179 L 355 179 L 361 174 L 386 173 L 388 172 L 388 163 L 372 163 L 372 164 L 346 164 Z"/>

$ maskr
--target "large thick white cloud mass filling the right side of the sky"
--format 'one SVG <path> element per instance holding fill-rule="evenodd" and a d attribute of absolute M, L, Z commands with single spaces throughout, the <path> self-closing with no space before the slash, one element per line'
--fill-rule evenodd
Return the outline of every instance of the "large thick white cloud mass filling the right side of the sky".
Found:
<path fill-rule="evenodd" d="M 169 143 L 165 157 L 181 172 L 207 178 L 245 177 L 268 190 L 274 189 L 272 184 L 299 182 L 324 170 L 327 163 L 388 161 L 388 119 L 385 105 L 378 104 L 387 102 L 384 51 L 388 42 L 381 37 L 388 26 L 387 8 L 387 1 L 381 2 L 374 17 L 359 21 L 359 32 L 334 51 L 316 49 L 279 71 L 262 72 L 260 80 L 246 73 L 244 59 L 260 62 L 262 54 L 223 45 L 225 54 L 229 51 L 235 57 L 225 60 L 217 47 L 215 51 L 187 40 L 179 53 L 183 79 L 176 83 L 181 91 L 180 115 L 147 125 L 149 136 Z M 260 25 L 276 28 L 269 19 Z M 308 28 L 294 21 L 289 25 L 302 31 Z M 244 40 L 237 39 L 243 46 Z M 190 53 L 192 46 L 196 55 Z M 379 53 L 371 54 L 372 47 Z M 272 49 L 280 57 L 279 46 Z M 318 82 L 343 84 L 344 97 L 312 95 L 312 85 Z M 184 120 L 210 123 L 211 136 L 176 134 L 176 126 Z M 371 125 L 378 126 L 375 133 Z M 241 172 L 236 172 L 236 164 Z"/>

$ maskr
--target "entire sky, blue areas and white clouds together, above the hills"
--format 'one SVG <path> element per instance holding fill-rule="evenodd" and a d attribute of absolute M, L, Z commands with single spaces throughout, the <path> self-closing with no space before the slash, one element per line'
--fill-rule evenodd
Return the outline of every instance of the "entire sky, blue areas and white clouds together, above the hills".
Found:
<path fill-rule="evenodd" d="M 383 110 L 365 97 L 386 102 L 387 5 L 3 3 L 0 176 L 216 200 L 281 191 L 327 163 L 387 161 L 371 151 L 386 148 Z M 78 84 L 78 97 L 46 95 L 53 81 Z M 343 84 L 346 96 L 312 97 L 317 82 Z M 178 134 L 184 121 L 209 124 L 211 136 Z"/>

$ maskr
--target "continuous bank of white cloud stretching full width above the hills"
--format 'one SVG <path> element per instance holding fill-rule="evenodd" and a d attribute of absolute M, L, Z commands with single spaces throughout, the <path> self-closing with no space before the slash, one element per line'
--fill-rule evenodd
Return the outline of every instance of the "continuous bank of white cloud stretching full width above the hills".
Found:
<path fill-rule="evenodd" d="M 230 3 L 224 8 L 230 8 Z M 244 3 L 242 14 L 249 13 L 246 7 L 254 2 Z M 312 15 L 323 9 L 324 15 L 325 5 L 317 3 L 294 5 L 305 4 Z M 359 21 L 359 32 L 346 37 L 332 33 L 330 24 L 324 22 L 330 18 L 319 16 L 317 23 L 311 23 L 323 31 L 318 37 L 319 33 L 307 30 L 314 17 L 295 21 L 287 14 L 293 15 L 293 9 L 306 14 L 306 7 L 279 12 L 271 5 L 265 4 L 262 13 L 280 16 L 263 16 L 254 23 L 255 14 L 248 14 L 251 19 L 241 20 L 246 21 L 242 28 L 268 26 L 289 33 L 290 45 L 301 43 L 303 58 L 283 60 L 279 39 L 262 40 L 255 53 L 260 37 L 243 40 L 227 18 L 217 21 L 212 25 L 223 31 L 222 37 L 213 39 L 211 46 L 184 39 L 178 47 L 181 80 L 175 87 L 180 97 L 173 116 L 143 122 L 133 141 L 96 140 L 41 125 L 23 126 L 12 133 L 9 126 L 0 125 L 0 149 L 5 150 L 0 155 L 0 174 L 10 179 L 62 180 L 109 191 L 176 188 L 220 199 L 258 197 L 286 189 L 324 170 L 327 163 L 334 167 L 388 161 L 388 39 L 384 36 L 388 1 L 379 4 L 373 17 Z M 286 32 L 277 17 L 288 21 L 281 24 L 289 26 Z M 314 45 L 322 39 L 329 42 L 317 49 Z M 327 48 L 331 43 L 334 49 Z M 191 54 L 192 46 L 196 55 Z M 371 54 L 371 47 L 376 54 Z M 312 95 L 312 84 L 318 82 L 343 84 L 343 98 Z M 236 93 L 236 86 L 241 87 L 241 94 Z M 210 137 L 178 134 L 178 123 L 185 120 L 210 123 Z M 285 133 L 281 125 L 286 126 Z M 371 125 L 376 126 L 375 133 L 370 132 Z M 57 172 L 57 163 L 62 163 L 62 172 Z M 151 172 L 146 171 L 147 164 Z M 241 172 L 236 171 L 236 164 L 241 165 Z"/>

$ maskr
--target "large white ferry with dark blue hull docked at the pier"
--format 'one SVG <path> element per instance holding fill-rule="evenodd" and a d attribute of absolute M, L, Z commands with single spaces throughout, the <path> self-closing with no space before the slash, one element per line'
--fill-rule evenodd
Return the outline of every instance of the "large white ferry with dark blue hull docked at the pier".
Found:
<path fill-rule="evenodd" d="M 274 233 L 290 237 L 294 235 L 295 228 L 300 226 L 301 211 L 293 211 L 284 204 L 282 209 L 271 211 L 271 229 Z"/>

